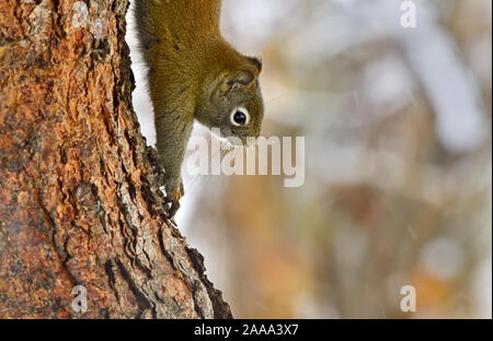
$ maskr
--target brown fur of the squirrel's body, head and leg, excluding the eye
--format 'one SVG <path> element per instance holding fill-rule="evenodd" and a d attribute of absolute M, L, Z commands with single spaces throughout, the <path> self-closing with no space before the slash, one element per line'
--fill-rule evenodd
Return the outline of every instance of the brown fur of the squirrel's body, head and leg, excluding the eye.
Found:
<path fill-rule="evenodd" d="M 140 48 L 149 68 L 157 148 L 167 172 L 172 214 L 179 208 L 181 166 L 194 119 L 225 136 L 257 137 L 263 118 L 262 63 L 239 54 L 219 32 L 220 0 L 136 0 Z M 251 121 L 232 127 L 231 110 Z"/>

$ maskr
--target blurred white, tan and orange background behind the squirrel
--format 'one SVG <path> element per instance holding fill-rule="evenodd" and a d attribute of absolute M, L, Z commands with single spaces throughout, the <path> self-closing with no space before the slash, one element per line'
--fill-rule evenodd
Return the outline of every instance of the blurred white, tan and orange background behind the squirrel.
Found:
<path fill-rule="evenodd" d="M 223 35 L 263 60 L 263 134 L 306 137 L 299 188 L 184 175 L 180 230 L 234 317 L 492 317 L 492 2 L 412 1 L 415 28 L 402 2 L 223 1 Z"/>

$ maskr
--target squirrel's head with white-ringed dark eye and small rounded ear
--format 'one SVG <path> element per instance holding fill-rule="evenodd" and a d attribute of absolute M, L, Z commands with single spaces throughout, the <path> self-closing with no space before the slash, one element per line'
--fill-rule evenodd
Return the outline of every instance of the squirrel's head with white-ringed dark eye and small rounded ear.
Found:
<path fill-rule="evenodd" d="M 261 71 L 259 59 L 244 57 L 237 68 L 217 72 L 199 101 L 197 120 L 209 129 L 219 128 L 222 138 L 239 138 L 243 144 L 249 137 L 257 138 L 264 116 Z"/>

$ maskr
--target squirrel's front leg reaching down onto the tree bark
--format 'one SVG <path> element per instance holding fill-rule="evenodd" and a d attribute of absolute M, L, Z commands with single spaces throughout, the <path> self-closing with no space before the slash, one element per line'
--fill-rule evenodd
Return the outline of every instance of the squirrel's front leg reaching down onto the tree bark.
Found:
<path fill-rule="evenodd" d="M 158 154 L 165 173 L 167 203 L 171 203 L 169 213 L 173 217 L 184 195 L 181 167 L 193 128 L 193 111 L 180 106 L 168 110 L 156 108 L 154 121 Z"/>

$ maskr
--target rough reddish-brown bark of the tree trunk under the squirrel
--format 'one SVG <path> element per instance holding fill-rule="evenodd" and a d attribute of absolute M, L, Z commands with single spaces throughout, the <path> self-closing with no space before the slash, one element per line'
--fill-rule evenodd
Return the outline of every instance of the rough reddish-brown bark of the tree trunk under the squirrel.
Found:
<path fill-rule="evenodd" d="M 127 7 L 0 0 L 1 318 L 231 317 L 168 219 L 131 108 Z"/>

